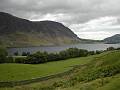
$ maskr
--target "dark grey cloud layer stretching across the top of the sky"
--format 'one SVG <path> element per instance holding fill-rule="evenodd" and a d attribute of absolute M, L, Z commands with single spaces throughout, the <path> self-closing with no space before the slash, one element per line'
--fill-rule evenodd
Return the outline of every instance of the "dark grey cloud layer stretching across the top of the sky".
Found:
<path fill-rule="evenodd" d="M 22 12 L 24 14 L 30 13 L 30 15 L 31 12 L 35 15 L 67 13 L 78 15 L 79 19 L 82 19 L 79 21 L 86 22 L 86 20 L 100 17 L 101 15 L 119 14 L 119 3 L 120 0 L 0 0 L 0 10 L 16 15 Z M 24 17 L 24 15 L 20 16 Z M 25 18 L 29 19 L 29 16 Z"/>

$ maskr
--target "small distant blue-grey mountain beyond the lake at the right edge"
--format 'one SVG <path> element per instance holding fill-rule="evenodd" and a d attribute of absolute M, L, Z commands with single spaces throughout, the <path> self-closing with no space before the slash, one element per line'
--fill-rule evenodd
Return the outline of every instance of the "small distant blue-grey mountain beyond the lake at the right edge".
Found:
<path fill-rule="evenodd" d="M 116 34 L 112 37 L 108 37 L 108 38 L 104 39 L 104 42 L 108 43 L 108 44 L 120 43 L 120 34 Z"/>

